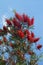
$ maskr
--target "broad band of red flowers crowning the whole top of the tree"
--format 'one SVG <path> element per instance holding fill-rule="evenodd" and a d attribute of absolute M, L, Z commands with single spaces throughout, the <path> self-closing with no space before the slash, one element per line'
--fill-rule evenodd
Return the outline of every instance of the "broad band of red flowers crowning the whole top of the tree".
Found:
<path fill-rule="evenodd" d="M 32 26 L 34 24 L 34 18 L 30 19 L 27 15 L 23 14 L 20 15 L 19 13 L 15 12 L 15 18 L 12 20 L 6 19 L 8 25 L 14 25 L 17 28 L 21 28 L 21 23 L 26 22 L 28 26 Z"/>

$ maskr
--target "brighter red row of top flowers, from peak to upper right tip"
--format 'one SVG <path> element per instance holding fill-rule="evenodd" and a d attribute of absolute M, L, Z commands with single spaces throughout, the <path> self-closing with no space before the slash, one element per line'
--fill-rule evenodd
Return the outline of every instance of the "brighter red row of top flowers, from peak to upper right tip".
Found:
<path fill-rule="evenodd" d="M 34 24 L 34 18 L 30 19 L 27 15 L 23 14 L 23 15 L 20 15 L 18 14 L 17 12 L 15 13 L 15 16 L 16 18 L 19 20 L 19 21 L 23 21 L 23 22 L 27 22 L 28 23 L 28 26 L 32 26 Z"/>

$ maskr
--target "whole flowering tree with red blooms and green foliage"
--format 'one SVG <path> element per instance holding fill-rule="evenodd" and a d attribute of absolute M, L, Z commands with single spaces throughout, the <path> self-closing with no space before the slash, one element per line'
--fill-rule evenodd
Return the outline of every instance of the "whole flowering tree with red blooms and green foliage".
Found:
<path fill-rule="evenodd" d="M 42 45 L 36 45 L 40 38 L 30 30 L 34 27 L 34 18 L 15 12 L 14 17 L 5 20 L 7 25 L 0 29 L 0 65 L 38 65 L 40 56 L 33 47 L 40 50 Z M 10 35 L 8 39 L 7 35 Z M 26 54 L 30 57 L 28 61 Z"/>

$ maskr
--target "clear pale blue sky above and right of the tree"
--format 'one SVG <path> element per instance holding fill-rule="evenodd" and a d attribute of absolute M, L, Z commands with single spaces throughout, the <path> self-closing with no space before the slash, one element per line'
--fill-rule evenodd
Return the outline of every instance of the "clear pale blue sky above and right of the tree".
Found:
<path fill-rule="evenodd" d="M 3 26 L 3 17 L 13 16 L 12 10 L 35 18 L 35 35 L 41 37 L 38 44 L 43 45 L 43 0 L 0 0 L 0 28 Z M 41 52 L 43 48 L 41 49 Z M 40 51 L 39 51 L 40 53 Z M 39 62 L 39 65 L 43 62 Z"/>

